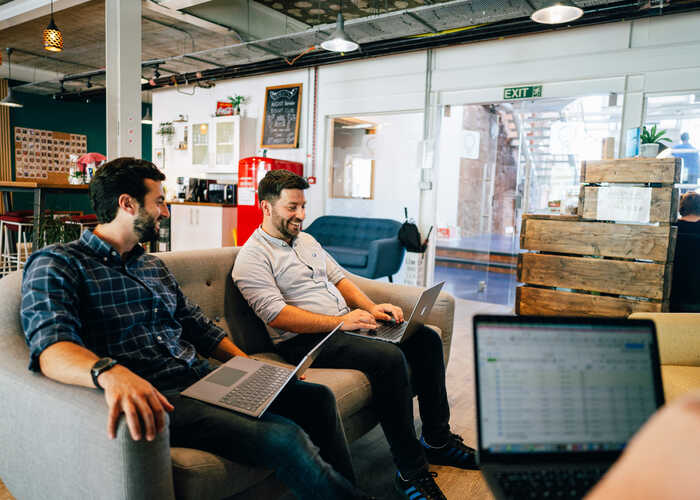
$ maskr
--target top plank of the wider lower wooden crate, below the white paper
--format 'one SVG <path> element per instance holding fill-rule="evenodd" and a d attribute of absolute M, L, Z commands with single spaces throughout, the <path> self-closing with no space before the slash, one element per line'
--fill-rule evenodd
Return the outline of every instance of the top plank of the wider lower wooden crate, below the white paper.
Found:
<path fill-rule="evenodd" d="M 578 222 L 571 218 L 524 215 L 520 232 L 523 250 L 657 262 L 669 260 L 669 251 L 673 252 L 675 245 L 673 226 Z"/>

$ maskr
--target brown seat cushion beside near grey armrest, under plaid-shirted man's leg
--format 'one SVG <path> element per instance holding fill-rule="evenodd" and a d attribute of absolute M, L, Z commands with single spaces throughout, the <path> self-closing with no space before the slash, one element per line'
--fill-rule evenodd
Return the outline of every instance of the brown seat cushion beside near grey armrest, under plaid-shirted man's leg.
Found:
<path fill-rule="evenodd" d="M 231 462 L 213 453 L 191 448 L 171 448 L 176 498 L 219 499 L 248 489 L 272 474 Z"/>

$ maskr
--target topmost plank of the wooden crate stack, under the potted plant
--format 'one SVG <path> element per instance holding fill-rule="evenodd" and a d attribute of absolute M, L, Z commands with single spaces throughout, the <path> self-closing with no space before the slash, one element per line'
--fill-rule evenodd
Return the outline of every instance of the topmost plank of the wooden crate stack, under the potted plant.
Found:
<path fill-rule="evenodd" d="M 581 182 L 634 182 L 675 184 L 681 180 L 679 158 L 624 158 L 584 161 Z"/>

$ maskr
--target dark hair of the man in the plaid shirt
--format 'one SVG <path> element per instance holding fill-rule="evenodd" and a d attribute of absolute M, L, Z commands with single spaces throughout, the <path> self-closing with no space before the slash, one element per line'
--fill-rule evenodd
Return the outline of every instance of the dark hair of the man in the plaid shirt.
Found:
<path fill-rule="evenodd" d="M 117 158 L 105 163 L 90 182 L 90 201 L 100 223 L 117 216 L 119 197 L 128 194 L 143 206 L 148 190 L 145 179 L 165 180 L 165 175 L 150 161 L 138 158 Z"/>

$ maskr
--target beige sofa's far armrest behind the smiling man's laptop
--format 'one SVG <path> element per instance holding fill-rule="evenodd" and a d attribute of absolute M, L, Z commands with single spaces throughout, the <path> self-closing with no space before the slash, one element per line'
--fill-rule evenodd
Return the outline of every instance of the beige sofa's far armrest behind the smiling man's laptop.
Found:
<path fill-rule="evenodd" d="M 345 272 L 345 275 L 355 283 L 367 296 L 375 303 L 390 302 L 403 309 L 408 315 L 415 305 L 418 297 L 423 292 L 423 288 L 417 286 L 400 285 L 396 283 L 386 283 L 375 281 L 355 274 Z M 428 316 L 427 324 L 435 326 L 440 330 L 442 337 L 443 354 L 445 356 L 445 366 L 450 359 L 450 346 L 452 345 L 452 331 L 454 328 L 455 299 L 447 292 L 440 292 L 435 301 L 432 311 Z"/>

